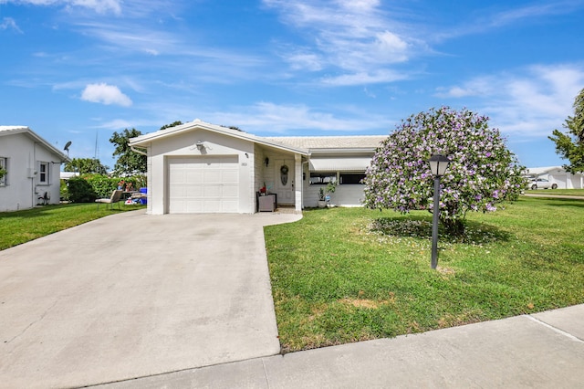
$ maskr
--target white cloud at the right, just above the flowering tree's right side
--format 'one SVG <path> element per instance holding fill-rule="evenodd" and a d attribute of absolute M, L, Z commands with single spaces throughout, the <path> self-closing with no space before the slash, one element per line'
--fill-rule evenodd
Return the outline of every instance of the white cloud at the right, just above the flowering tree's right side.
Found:
<path fill-rule="evenodd" d="M 584 88 L 584 66 L 536 65 L 515 72 L 482 76 L 447 89 L 443 99 L 471 99 L 491 125 L 506 133 L 534 138 L 561 128 L 579 90 Z"/>

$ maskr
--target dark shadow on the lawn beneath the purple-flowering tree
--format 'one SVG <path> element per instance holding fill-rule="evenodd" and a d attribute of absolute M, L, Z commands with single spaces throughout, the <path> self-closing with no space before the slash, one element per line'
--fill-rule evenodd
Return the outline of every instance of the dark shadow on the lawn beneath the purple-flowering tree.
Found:
<path fill-rule="evenodd" d="M 371 230 L 391 237 L 432 238 L 432 216 L 380 217 L 373 220 Z M 448 239 L 451 243 L 471 245 L 506 242 L 511 238 L 511 234 L 496 226 L 468 220 L 464 222 L 463 236 L 447 234 L 443 226 L 439 226 L 438 232 L 442 239 Z"/>

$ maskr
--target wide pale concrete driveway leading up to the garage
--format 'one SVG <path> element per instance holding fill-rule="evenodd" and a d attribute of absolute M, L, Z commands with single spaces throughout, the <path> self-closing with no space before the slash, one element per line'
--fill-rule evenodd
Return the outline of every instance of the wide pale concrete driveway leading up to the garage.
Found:
<path fill-rule="evenodd" d="M 0 386 L 67 387 L 279 352 L 263 226 L 108 216 L 0 251 Z"/>

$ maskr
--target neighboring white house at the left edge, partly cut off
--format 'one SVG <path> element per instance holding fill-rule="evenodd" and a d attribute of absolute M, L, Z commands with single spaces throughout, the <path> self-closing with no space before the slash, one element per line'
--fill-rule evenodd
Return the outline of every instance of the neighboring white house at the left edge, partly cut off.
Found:
<path fill-rule="evenodd" d="M 59 171 L 68 157 L 25 126 L 0 126 L 0 212 L 58 204 Z"/>

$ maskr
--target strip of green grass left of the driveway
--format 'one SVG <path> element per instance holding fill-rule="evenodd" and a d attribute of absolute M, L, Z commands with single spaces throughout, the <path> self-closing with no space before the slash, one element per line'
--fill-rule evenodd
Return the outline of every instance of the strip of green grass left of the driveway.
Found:
<path fill-rule="evenodd" d="M 146 205 L 114 205 L 110 210 L 106 205 L 68 204 L 45 205 L 32 209 L 0 213 L 0 250 L 20 245 L 38 237 L 78 226 L 99 217 L 118 212 L 145 208 Z"/>

